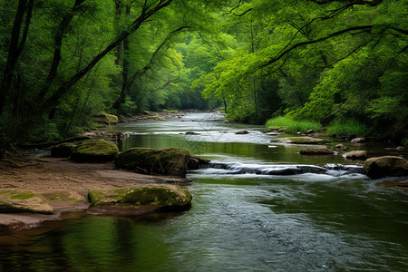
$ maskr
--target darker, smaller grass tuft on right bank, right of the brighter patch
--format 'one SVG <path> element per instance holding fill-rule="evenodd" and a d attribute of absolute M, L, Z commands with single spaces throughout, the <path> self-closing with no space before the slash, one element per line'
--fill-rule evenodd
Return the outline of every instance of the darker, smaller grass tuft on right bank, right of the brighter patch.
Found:
<path fill-rule="evenodd" d="M 337 135 L 337 136 L 348 136 L 348 135 L 356 135 L 356 136 L 365 136 L 368 133 L 368 127 L 360 122 L 356 121 L 355 119 L 349 119 L 346 121 L 333 121 L 327 127 L 327 134 L 328 135 Z"/>

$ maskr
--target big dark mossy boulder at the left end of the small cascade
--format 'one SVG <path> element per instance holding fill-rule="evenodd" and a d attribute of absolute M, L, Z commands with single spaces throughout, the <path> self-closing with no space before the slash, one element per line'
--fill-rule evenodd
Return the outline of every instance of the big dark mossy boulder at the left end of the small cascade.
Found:
<path fill-rule="evenodd" d="M 118 169 L 185 177 L 190 159 L 189 151 L 181 148 L 134 148 L 121 153 L 115 164 Z"/>

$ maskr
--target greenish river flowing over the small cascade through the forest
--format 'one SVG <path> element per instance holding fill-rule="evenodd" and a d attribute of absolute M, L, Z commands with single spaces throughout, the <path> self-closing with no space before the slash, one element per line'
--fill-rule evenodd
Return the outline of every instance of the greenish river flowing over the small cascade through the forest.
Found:
<path fill-rule="evenodd" d="M 122 151 L 184 147 L 212 161 L 189 171 L 192 208 L 81 215 L 0 236 L 0 270 L 407 270 L 407 191 L 376 186 L 341 155 L 301 156 L 304 146 L 271 143 L 261 129 L 214 113 L 117 125 L 131 135 Z"/>

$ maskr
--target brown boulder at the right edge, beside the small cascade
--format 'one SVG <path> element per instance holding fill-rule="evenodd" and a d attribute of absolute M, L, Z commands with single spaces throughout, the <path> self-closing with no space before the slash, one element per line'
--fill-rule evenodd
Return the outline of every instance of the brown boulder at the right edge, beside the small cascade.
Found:
<path fill-rule="evenodd" d="M 374 157 L 364 161 L 364 174 L 380 178 L 385 176 L 408 175 L 408 160 L 396 156 Z"/>

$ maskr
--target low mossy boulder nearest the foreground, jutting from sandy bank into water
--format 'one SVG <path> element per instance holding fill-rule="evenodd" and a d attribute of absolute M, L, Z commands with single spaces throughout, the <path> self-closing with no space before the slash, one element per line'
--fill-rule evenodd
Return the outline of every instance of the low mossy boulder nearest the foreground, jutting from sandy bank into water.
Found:
<path fill-rule="evenodd" d="M 88 193 L 92 213 L 135 215 L 157 210 L 187 210 L 191 194 L 169 184 L 149 184 L 121 189 L 94 189 Z"/>

